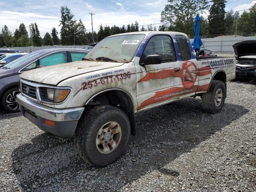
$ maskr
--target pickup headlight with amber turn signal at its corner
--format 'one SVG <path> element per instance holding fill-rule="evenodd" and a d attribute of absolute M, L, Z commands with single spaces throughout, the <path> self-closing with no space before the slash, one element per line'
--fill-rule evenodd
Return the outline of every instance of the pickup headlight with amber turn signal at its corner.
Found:
<path fill-rule="evenodd" d="M 67 98 L 70 89 L 47 88 L 46 92 L 48 100 L 51 100 L 53 103 L 60 103 Z"/>

